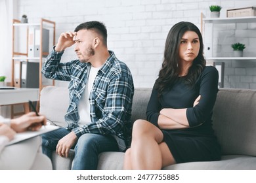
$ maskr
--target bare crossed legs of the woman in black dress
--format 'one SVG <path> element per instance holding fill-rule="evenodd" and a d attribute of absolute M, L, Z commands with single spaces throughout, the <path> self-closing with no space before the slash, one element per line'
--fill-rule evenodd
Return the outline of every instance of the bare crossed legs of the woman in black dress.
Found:
<path fill-rule="evenodd" d="M 131 148 L 125 154 L 124 168 L 161 169 L 175 163 L 163 133 L 146 120 L 137 120 L 133 125 Z M 130 164 L 130 165 L 129 165 Z"/>

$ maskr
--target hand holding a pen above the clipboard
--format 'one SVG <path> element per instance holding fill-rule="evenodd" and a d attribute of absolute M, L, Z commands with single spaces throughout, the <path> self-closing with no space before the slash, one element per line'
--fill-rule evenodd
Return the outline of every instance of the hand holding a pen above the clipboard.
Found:
<path fill-rule="evenodd" d="M 46 122 L 45 116 L 36 116 L 35 112 L 29 112 L 20 118 L 12 119 L 11 127 L 17 133 L 27 130 L 37 131 L 42 125 L 46 125 Z"/>

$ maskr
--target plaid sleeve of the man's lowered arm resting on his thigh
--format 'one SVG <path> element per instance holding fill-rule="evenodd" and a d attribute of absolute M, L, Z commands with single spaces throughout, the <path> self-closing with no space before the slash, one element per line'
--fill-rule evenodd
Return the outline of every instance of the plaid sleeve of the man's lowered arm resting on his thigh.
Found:
<path fill-rule="evenodd" d="M 107 91 L 102 118 L 98 121 L 74 129 L 79 138 L 84 133 L 98 133 L 102 135 L 118 135 L 126 122 L 127 114 L 131 112 L 133 100 L 132 78 L 121 76 L 110 82 Z"/>

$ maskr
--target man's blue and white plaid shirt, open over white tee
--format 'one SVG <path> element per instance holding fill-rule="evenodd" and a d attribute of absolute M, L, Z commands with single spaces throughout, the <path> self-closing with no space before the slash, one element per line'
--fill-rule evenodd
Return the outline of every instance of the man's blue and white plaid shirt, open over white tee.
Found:
<path fill-rule="evenodd" d="M 43 64 L 42 73 L 46 78 L 70 81 L 70 103 L 65 115 L 67 128 L 72 129 L 77 138 L 84 133 L 114 135 L 125 141 L 126 148 L 129 147 L 134 86 L 127 65 L 109 51 L 110 57 L 98 71 L 89 96 L 92 122 L 79 126 L 77 106 L 85 90 L 91 63 L 81 63 L 79 59 L 60 63 L 63 53 L 53 50 Z"/>

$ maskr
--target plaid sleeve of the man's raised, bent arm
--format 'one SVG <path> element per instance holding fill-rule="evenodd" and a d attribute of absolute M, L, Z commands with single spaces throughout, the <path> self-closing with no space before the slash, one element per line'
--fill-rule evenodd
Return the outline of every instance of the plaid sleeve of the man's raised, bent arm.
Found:
<path fill-rule="evenodd" d="M 70 81 L 70 65 L 72 63 L 60 63 L 63 53 L 52 50 L 47 56 L 41 71 L 46 78 Z"/>

